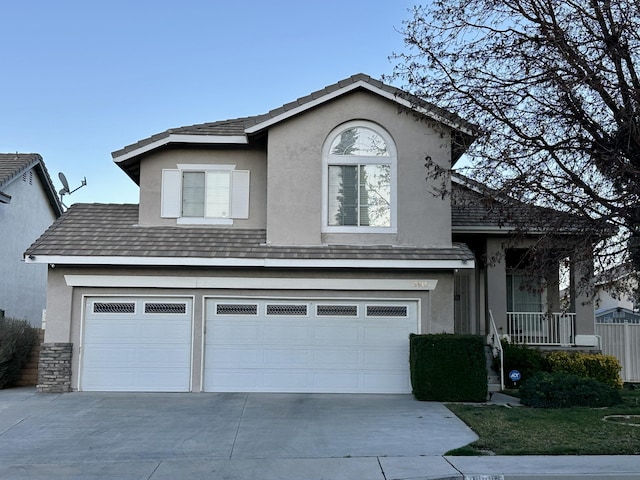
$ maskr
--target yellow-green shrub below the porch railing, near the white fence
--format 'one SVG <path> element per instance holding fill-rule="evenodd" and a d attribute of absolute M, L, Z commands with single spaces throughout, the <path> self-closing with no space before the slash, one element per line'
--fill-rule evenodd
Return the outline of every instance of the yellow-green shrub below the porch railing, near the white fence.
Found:
<path fill-rule="evenodd" d="M 553 352 L 547 356 L 551 372 L 564 372 L 592 378 L 613 388 L 622 388 L 622 365 L 613 355 L 600 353 Z"/>

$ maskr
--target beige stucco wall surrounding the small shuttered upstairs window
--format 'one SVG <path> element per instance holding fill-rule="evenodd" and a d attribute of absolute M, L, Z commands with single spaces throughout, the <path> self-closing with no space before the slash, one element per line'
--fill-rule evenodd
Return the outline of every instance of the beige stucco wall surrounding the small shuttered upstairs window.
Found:
<path fill-rule="evenodd" d="M 249 147 L 223 150 L 182 146 L 143 158 L 140 162 L 140 225 L 176 225 L 175 218 L 160 217 L 160 200 L 162 170 L 175 169 L 178 164 L 235 165 L 236 170 L 249 170 L 249 218 L 234 219 L 233 227 L 266 227 L 266 152 Z"/>

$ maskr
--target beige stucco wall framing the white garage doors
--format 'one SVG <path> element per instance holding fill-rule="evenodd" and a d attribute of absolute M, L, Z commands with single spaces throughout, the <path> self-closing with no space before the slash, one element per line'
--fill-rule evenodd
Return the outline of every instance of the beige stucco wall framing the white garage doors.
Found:
<path fill-rule="evenodd" d="M 79 378 L 81 342 L 81 324 L 83 319 L 83 301 L 87 296 L 188 296 L 193 297 L 193 368 L 192 390 L 200 391 L 202 331 L 204 322 L 205 297 L 280 297 L 280 298 L 353 298 L 353 299 L 396 299 L 418 300 L 420 303 L 420 329 L 422 333 L 453 332 L 453 275 L 449 272 L 402 272 L 385 271 L 296 271 L 296 270 L 248 270 L 244 275 L 251 278 L 285 277 L 295 278 L 345 278 L 345 279 L 412 279 L 437 280 L 433 291 L 335 291 L 335 290 L 231 290 L 231 289 L 181 289 L 181 288 L 95 288 L 69 287 L 65 275 L 145 275 L 156 278 L 162 276 L 212 276 L 237 277 L 239 272 L 229 269 L 167 269 L 149 268 L 81 268 L 56 267 L 49 270 L 49 309 L 45 342 L 73 343 L 72 388 L 76 389 Z"/>

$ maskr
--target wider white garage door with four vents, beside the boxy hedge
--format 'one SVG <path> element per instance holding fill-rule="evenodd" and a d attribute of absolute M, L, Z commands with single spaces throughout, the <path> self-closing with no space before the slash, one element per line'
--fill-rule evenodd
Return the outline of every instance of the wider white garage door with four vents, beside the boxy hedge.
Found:
<path fill-rule="evenodd" d="M 210 392 L 410 393 L 417 302 L 209 299 Z"/>

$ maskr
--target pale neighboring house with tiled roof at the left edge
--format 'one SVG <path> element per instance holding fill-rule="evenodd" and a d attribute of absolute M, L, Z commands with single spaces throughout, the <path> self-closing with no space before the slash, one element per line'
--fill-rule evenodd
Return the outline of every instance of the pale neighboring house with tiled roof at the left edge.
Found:
<path fill-rule="evenodd" d="M 25 265 L 25 249 L 62 215 L 42 157 L 0 153 L 0 313 L 40 327 L 47 301 L 46 265 Z"/>

